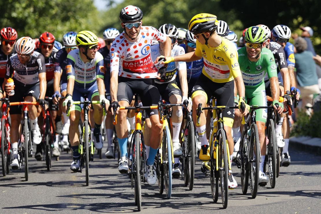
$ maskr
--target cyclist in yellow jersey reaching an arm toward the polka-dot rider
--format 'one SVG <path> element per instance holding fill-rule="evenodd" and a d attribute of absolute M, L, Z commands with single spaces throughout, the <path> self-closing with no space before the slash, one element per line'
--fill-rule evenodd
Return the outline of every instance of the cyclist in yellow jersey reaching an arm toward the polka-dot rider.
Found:
<path fill-rule="evenodd" d="M 234 81 L 240 94 L 239 106 L 244 101 L 245 88 L 238 63 L 238 54 L 235 45 L 216 33 L 218 21 L 215 15 L 200 13 L 195 15 L 188 24 L 188 30 L 194 33 L 196 50 L 184 55 L 165 57 L 162 63 L 190 62 L 204 58 L 202 74 L 192 90 L 193 120 L 196 124 L 196 108 L 199 103 L 202 107 L 208 103 L 211 96 L 216 98 L 217 106 L 234 105 Z M 163 56 L 160 56 L 163 57 Z M 246 105 L 243 115 L 247 114 L 249 106 Z M 233 154 L 234 142 L 231 135 L 234 111 L 223 110 L 224 129 L 229 142 L 230 154 Z M 201 151 L 199 158 L 209 160 L 209 143 L 206 138 L 206 119 L 204 112 L 200 116 L 200 125 L 196 131 L 201 140 Z M 231 159 L 232 155 L 230 156 Z M 229 171 L 229 188 L 236 188 L 237 183 Z"/>

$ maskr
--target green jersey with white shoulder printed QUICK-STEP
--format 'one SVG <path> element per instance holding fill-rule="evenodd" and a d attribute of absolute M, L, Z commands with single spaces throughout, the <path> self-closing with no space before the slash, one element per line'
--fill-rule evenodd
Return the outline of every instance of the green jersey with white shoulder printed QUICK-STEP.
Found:
<path fill-rule="evenodd" d="M 276 64 L 273 53 L 267 49 L 262 48 L 261 57 L 257 62 L 251 62 L 247 58 L 246 47 L 238 50 L 239 66 L 246 88 L 257 88 L 264 84 L 264 76 L 267 73 L 269 79 L 277 77 Z"/>

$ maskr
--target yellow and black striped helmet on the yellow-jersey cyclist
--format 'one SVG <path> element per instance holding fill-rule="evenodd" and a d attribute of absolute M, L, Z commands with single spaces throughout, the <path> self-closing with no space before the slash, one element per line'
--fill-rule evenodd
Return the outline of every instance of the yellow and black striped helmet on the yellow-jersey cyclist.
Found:
<path fill-rule="evenodd" d="M 200 13 L 195 15 L 188 23 L 188 30 L 194 34 L 200 34 L 204 32 L 213 32 L 219 22 L 215 15 L 209 13 Z"/>

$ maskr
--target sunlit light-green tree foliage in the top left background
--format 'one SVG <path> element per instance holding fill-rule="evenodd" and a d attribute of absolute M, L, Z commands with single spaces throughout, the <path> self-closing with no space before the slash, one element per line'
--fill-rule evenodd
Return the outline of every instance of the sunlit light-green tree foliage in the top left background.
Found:
<path fill-rule="evenodd" d="M 6 0 L 0 1 L 1 28 L 11 26 L 18 38 L 39 38 L 49 31 L 57 40 L 68 31 L 97 33 L 104 22 L 92 0 Z"/>

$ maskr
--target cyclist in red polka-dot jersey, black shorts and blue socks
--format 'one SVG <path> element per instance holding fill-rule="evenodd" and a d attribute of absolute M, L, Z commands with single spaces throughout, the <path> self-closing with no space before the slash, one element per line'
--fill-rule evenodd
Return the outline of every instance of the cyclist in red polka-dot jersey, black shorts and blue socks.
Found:
<path fill-rule="evenodd" d="M 151 43 L 153 39 L 159 41 L 162 52 L 170 56 L 171 40 L 153 27 L 142 26 L 143 13 L 136 6 L 128 5 L 123 8 L 119 19 L 124 31 L 115 38 L 110 47 L 111 109 L 129 106 L 134 93 L 139 94 L 143 106 L 157 106 L 160 93 L 155 87 L 154 79 L 160 78 L 160 74 L 152 62 Z M 163 74 L 164 71 L 166 67 L 159 72 Z M 116 113 L 116 132 L 121 153 L 118 170 L 120 173 L 127 173 L 127 111 L 119 111 L 118 108 Z M 149 140 L 150 150 L 146 163 L 147 183 L 152 185 L 156 183 L 154 158 L 160 143 L 162 125 L 157 110 L 147 110 L 146 114 L 149 115 L 154 133 Z"/>

